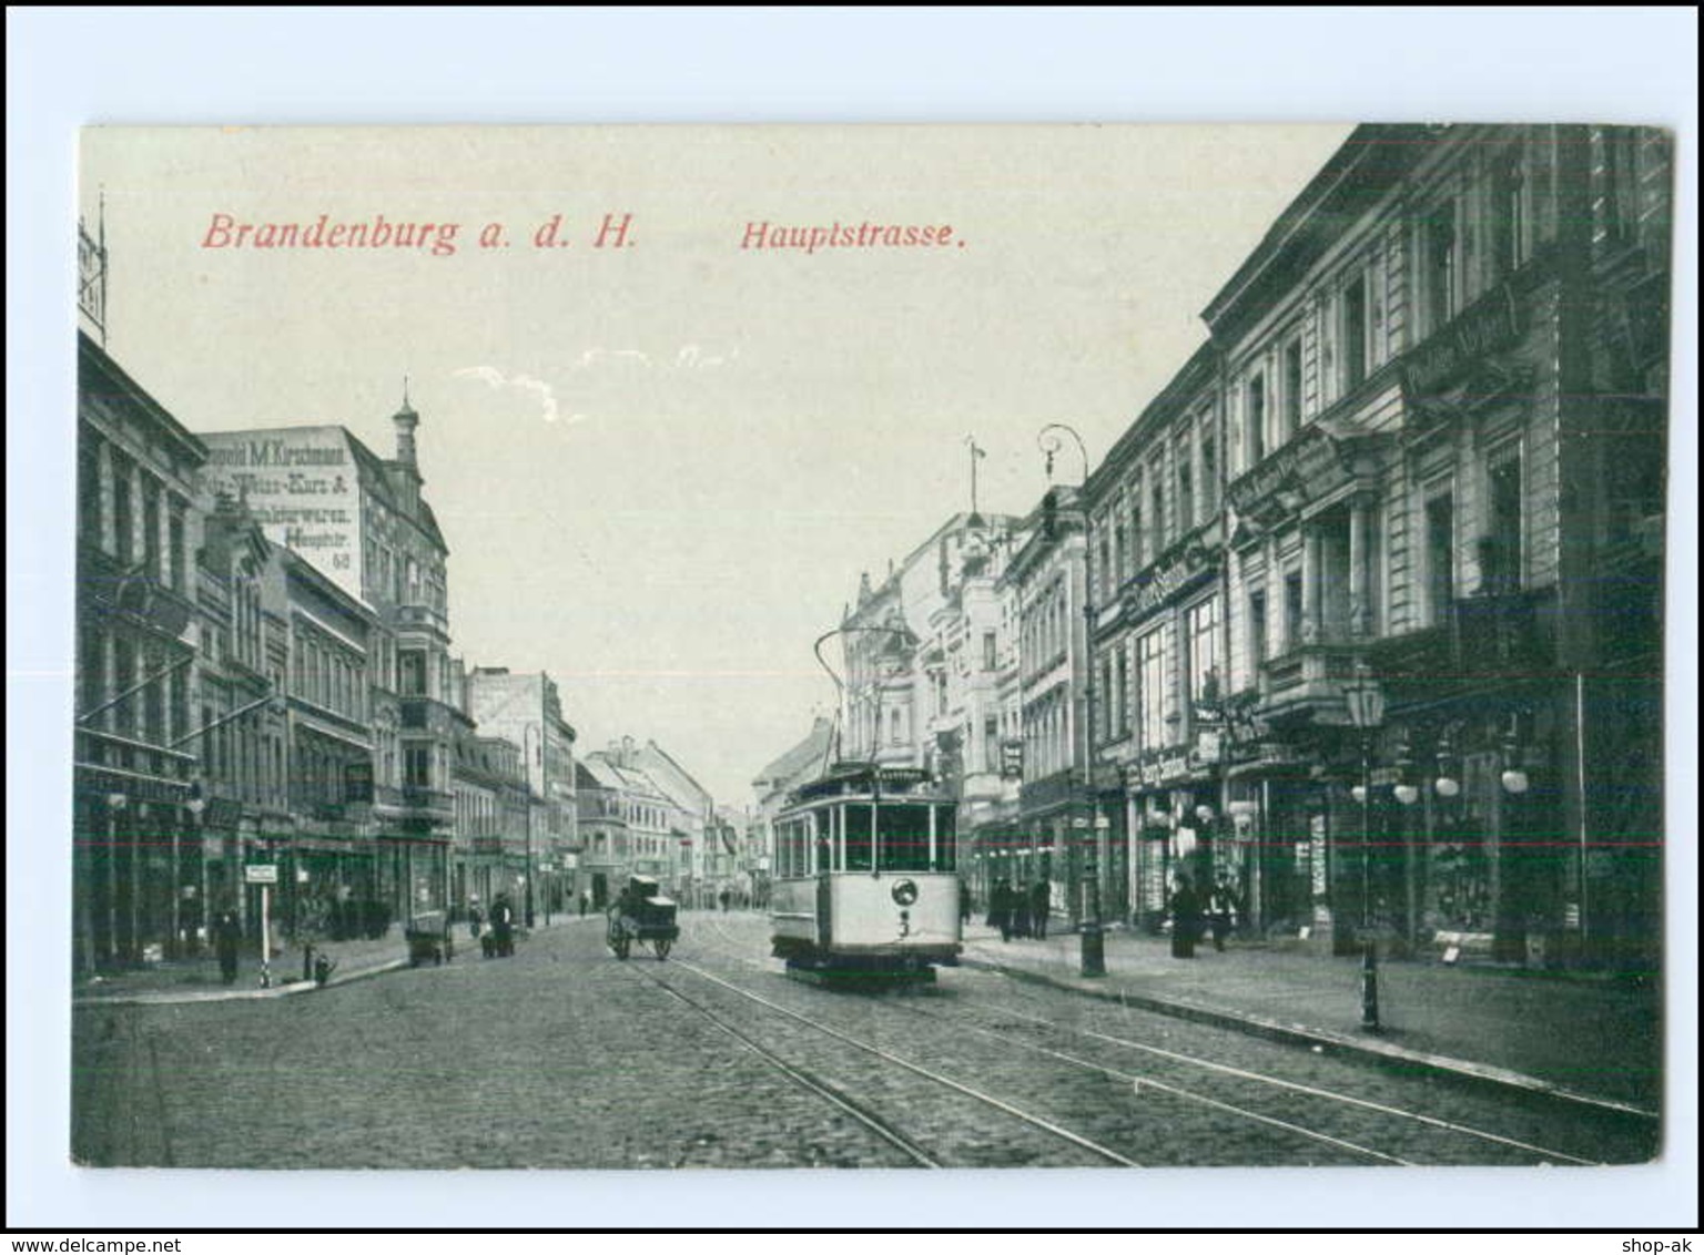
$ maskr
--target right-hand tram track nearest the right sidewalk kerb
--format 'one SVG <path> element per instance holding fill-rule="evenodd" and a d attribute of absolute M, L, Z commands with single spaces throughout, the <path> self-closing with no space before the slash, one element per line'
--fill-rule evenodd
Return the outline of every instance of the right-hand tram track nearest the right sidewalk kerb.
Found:
<path fill-rule="evenodd" d="M 721 921 L 712 921 L 712 933 L 721 940 L 716 945 L 721 954 L 751 969 L 765 969 L 763 964 L 753 962 L 745 954 L 745 948 L 722 928 Z M 1528 1136 L 1513 1136 L 1511 1132 L 1479 1127 L 1464 1119 L 1435 1115 L 1315 1083 L 1273 1076 L 1200 1054 L 1140 1042 L 1123 1034 L 1062 1025 L 1056 1018 L 1033 1015 L 1005 1001 L 978 1006 L 959 1003 L 951 1015 L 927 1010 L 917 1001 L 888 1001 L 886 1005 L 901 1013 L 934 1020 L 951 1030 L 968 1030 L 995 1039 L 1007 1047 L 1048 1057 L 1067 1068 L 1116 1080 L 1130 1085 L 1131 1095 L 1138 1095 L 1143 1090 L 1147 1093 L 1169 1095 L 1212 1109 L 1218 1115 L 1254 1120 L 1273 1129 L 1283 1129 L 1288 1134 L 1307 1138 L 1309 1141 L 1350 1149 L 1363 1156 L 1363 1161 L 1402 1165 L 1416 1161 L 1525 1165 L 1598 1165 L 1617 1161 L 1605 1160 L 1602 1155 L 1583 1153 L 1586 1146 L 1563 1149 L 1542 1144 Z M 990 1025 L 985 1015 L 1000 1018 Z M 1048 1040 L 1053 1044 L 1046 1044 Z M 1070 1044 L 1070 1051 L 1055 1049 L 1055 1046 L 1065 1042 Z M 1118 1052 L 1121 1059 L 1128 1059 L 1130 1054 L 1140 1054 L 1148 1063 L 1148 1068 L 1133 1071 L 1128 1066 L 1109 1063 L 1106 1059 L 1108 1051 Z M 1101 1057 L 1082 1057 L 1084 1054 L 1099 1054 Z M 1234 1093 L 1201 1093 L 1188 1085 L 1179 1085 L 1179 1073 L 1206 1073 L 1213 1076 L 1217 1085 L 1234 1086 Z M 1235 1102 L 1227 1102 L 1229 1097 L 1235 1097 Z M 1467 1100 L 1459 1100 L 1459 1105 L 1462 1103 L 1467 1107 L 1474 1105 Z M 1569 1110 L 1568 1114 L 1581 1117 L 1592 1126 L 1600 1126 L 1603 1119 L 1598 1110 Z M 1590 1141 L 1592 1138 L 1592 1129 L 1581 1134 L 1583 1141 Z M 1390 1153 L 1387 1148 L 1392 1141 L 1404 1149 Z M 1421 1148 L 1423 1158 L 1413 1158 L 1414 1151 L 1408 1148 L 1414 1144 Z M 1469 1155 L 1469 1148 L 1479 1149 Z"/>

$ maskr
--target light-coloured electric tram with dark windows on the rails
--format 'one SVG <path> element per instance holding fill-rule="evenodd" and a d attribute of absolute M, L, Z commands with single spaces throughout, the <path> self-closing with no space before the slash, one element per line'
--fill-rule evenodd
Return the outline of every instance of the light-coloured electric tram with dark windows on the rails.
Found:
<path fill-rule="evenodd" d="M 934 979 L 959 954 L 956 807 L 929 773 L 840 765 L 775 819 L 772 954 L 791 972 Z"/>

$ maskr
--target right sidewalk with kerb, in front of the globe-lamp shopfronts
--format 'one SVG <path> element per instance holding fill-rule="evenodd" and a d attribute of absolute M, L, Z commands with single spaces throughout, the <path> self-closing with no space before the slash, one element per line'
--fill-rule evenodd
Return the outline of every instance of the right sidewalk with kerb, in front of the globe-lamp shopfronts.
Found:
<path fill-rule="evenodd" d="M 1534 1092 L 1644 1112 L 1661 1107 L 1661 1015 L 1653 983 L 1385 960 L 1382 1030 L 1361 1030 L 1361 960 L 1212 940 L 1172 959 L 1164 937 L 1106 933 L 1106 976 L 1080 976 L 1075 933 L 1002 942 L 973 923 L 964 962 L 1128 1006 Z"/>

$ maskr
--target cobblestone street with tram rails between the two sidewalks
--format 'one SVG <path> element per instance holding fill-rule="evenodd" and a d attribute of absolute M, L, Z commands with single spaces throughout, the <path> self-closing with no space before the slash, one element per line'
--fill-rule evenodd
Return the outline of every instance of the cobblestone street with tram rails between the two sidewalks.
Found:
<path fill-rule="evenodd" d="M 985 969 L 780 974 L 757 914 L 659 964 L 602 921 L 283 998 L 83 1001 L 73 1153 L 250 1168 L 1641 1161 L 1655 1126 Z"/>

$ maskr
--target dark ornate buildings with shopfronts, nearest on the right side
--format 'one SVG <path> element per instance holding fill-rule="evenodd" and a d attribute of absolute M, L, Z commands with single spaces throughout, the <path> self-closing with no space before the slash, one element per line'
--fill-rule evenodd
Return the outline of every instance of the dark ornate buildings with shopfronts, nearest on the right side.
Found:
<path fill-rule="evenodd" d="M 1210 303 L 1087 490 L 1135 923 L 1649 959 L 1670 160 L 1358 128 Z"/>

